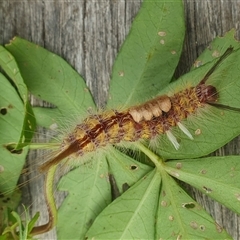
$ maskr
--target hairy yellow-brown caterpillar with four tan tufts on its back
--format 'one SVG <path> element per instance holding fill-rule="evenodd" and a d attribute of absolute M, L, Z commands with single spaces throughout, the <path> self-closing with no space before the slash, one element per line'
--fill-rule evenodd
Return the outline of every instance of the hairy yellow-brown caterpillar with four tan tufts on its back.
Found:
<path fill-rule="evenodd" d="M 81 156 L 107 144 L 118 144 L 121 141 L 151 140 L 159 134 L 166 134 L 178 149 L 180 145 L 171 128 L 178 126 L 190 139 L 193 139 L 181 121 L 205 104 L 216 103 L 217 89 L 207 85 L 206 81 L 232 51 L 232 47 L 228 48 L 195 87 L 186 88 L 172 96 L 158 96 L 124 111 L 109 110 L 107 114 L 89 116 L 81 124 L 76 125 L 63 140 L 59 153 L 41 165 L 40 171 L 47 171 L 52 165 L 58 164 L 72 154 Z"/>

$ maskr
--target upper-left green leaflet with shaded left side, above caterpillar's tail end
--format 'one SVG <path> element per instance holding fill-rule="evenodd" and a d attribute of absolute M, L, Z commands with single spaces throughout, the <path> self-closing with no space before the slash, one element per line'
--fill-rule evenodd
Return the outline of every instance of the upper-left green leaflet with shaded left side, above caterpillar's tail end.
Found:
<path fill-rule="evenodd" d="M 16 59 L 29 91 L 54 104 L 61 121 L 85 116 L 86 109 L 95 108 L 85 82 L 62 58 L 18 37 L 6 48 Z"/>

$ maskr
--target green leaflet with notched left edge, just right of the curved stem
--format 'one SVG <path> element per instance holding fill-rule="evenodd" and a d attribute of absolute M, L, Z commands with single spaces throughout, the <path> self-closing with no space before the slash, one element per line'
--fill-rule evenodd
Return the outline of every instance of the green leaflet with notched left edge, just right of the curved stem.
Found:
<path fill-rule="evenodd" d="M 107 162 L 98 159 L 94 164 L 82 165 L 61 179 L 60 190 L 69 194 L 58 211 L 58 238 L 71 236 L 83 239 L 96 216 L 111 202 L 106 169 Z M 71 219 L 71 227 L 66 224 L 66 219 Z"/>

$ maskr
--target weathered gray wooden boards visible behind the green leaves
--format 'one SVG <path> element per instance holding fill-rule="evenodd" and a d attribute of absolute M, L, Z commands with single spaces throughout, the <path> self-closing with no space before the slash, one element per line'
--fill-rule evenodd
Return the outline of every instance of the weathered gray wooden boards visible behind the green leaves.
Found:
<path fill-rule="evenodd" d="M 139 0 L 0 0 L 0 44 L 18 35 L 62 56 L 86 79 L 96 102 L 103 105 L 113 61 L 140 5 Z M 232 28 L 237 30 L 236 38 L 240 36 L 240 1 L 184 0 L 184 5 L 186 39 L 176 75 L 187 72 L 216 36 Z M 216 154 L 239 154 L 239 149 L 236 139 Z M 35 159 L 33 155 L 31 161 Z M 37 193 L 39 183 L 32 187 Z M 234 239 L 240 239 L 240 218 L 236 214 L 198 191 L 190 191 Z M 41 210 L 44 202 L 37 193 L 24 195 L 33 202 L 33 212 Z M 46 212 L 44 208 L 41 211 Z M 56 239 L 54 231 L 42 239 Z"/>

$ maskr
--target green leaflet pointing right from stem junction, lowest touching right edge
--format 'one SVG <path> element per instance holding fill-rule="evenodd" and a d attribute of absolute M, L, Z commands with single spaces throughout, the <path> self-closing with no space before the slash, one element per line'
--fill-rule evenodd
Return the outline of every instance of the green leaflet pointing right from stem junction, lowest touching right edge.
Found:
<path fill-rule="evenodd" d="M 240 157 L 170 161 L 166 171 L 240 214 Z"/>

